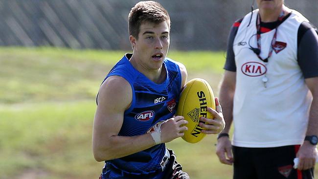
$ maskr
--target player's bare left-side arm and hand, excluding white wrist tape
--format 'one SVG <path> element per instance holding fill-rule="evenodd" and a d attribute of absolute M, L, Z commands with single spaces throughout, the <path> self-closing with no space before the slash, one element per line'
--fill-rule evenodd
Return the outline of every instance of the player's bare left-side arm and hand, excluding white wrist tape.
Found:
<path fill-rule="evenodd" d="M 151 134 L 118 136 L 132 96 L 130 84 L 119 76 L 109 77 L 100 87 L 92 138 L 93 154 L 97 161 L 125 157 L 155 145 Z M 184 131 L 185 127 L 180 126 L 186 121 L 181 119 L 183 117 L 176 116 L 161 126 L 161 143 L 183 135 L 180 131 Z"/>

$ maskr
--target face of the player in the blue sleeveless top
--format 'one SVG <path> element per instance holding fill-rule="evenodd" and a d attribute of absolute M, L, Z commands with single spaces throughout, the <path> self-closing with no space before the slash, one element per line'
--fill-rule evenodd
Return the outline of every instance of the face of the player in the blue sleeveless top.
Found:
<path fill-rule="evenodd" d="M 148 70 L 158 69 L 166 57 L 170 44 L 169 26 L 164 22 L 158 24 L 143 22 L 140 25 L 138 40 L 130 37 L 134 46 L 134 58 Z"/>

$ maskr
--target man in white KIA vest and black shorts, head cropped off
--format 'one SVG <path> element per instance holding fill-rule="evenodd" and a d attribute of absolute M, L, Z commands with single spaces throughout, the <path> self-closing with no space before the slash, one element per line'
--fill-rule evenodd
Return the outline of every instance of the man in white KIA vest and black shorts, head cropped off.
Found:
<path fill-rule="evenodd" d="M 313 179 L 317 29 L 284 0 L 257 0 L 257 5 L 229 34 L 220 89 L 227 126 L 216 153 L 221 163 L 234 164 L 234 179 Z"/>

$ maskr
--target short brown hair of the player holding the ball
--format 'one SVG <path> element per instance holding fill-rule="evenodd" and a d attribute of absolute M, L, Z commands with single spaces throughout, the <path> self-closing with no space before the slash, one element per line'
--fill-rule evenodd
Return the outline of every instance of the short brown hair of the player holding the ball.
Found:
<path fill-rule="evenodd" d="M 128 15 L 129 35 L 138 39 L 140 25 L 143 22 L 160 23 L 166 21 L 170 30 L 170 16 L 159 2 L 140 1 L 130 10 Z"/>

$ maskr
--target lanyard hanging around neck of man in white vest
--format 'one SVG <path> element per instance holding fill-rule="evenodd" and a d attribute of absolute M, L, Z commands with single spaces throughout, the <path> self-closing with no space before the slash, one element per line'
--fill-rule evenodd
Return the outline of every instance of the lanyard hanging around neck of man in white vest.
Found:
<path fill-rule="evenodd" d="M 277 27 L 283 21 L 284 14 L 285 14 L 284 10 L 282 10 L 282 12 L 279 14 L 279 17 L 278 17 L 278 20 L 277 20 L 277 24 L 276 24 L 276 27 L 275 27 L 275 33 L 274 33 L 274 36 L 273 36 L 273 39 L 272 39 L 272 43 L 271 43 L 271 46 L 270 46 L 270 51 L 268 52 L 268 57 L 266 59 L 262 59 L 262 57 L 260 57 L 260 53 L 257 54 L 257 57 L 263 62 L 267 63 L 268 59 L 272 56 L 273 46 L 276 43 Z M 257 34 L 256 34 L 257 48 L 259 49 L 259 51 L 261 51 L 261 16 L 259 15 L 259 13 L 257 14 L 256 29 L 257 29 Z"/>

